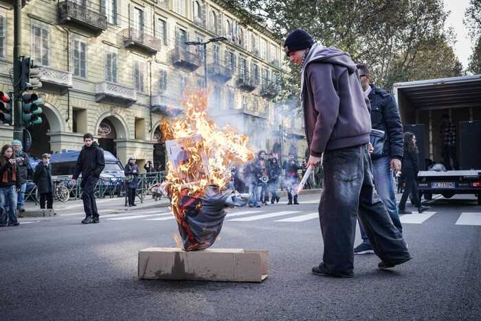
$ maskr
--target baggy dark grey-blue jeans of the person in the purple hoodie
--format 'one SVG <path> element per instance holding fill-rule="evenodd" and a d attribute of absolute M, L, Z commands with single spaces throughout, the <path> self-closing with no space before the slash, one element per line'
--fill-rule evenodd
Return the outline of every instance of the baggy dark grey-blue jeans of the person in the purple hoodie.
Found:
<path fill-rule="evenodd" d="M 319 218 L 328 272 L 353 274 L 358 216 L 382 261 L 396 263 L 410 258 L 403 236 L 374 188 L 368 145 L 326 151 L 322 165 Z"/>

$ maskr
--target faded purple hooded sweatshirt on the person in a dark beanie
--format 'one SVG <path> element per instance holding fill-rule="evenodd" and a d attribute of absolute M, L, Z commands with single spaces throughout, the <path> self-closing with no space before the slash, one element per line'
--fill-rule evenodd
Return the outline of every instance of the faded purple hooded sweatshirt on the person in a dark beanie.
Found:
<path fill-rule="evenodd" d="M 311 155 L 368 144 L 369 100 L 346 52 L 315 43 L 301 71 L 301 100 Z"/>

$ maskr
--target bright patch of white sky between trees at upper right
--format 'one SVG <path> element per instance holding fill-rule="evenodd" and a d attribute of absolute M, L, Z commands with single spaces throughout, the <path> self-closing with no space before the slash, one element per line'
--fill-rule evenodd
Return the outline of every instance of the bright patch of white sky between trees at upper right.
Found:
<path fill-rule="evenodd" d="M 449 14 L 447 18 L 447 26 L 454 27 L 454 31 L 456 32 L 454 52 L 462 63 L 463 69 L 466 69 L 468 58 L 473 51 L 473 43 L 468 36 L 465 25 L 462 23 L 466 8 L 469 5 L 469 0 L 444 0 L 444 3 L 445 9 L 451 11 L 451 14 Z"/>

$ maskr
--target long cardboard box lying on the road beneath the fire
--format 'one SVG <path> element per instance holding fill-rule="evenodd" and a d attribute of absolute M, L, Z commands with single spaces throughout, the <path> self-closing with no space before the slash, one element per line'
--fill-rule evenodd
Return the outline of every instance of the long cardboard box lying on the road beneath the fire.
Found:
<path fill-rule="evenodd" d="M 262 282 L 267 250 L 208 249 L 185 252 L 176 247 L 139 251 L 138 276 L 150 280 Z"/>

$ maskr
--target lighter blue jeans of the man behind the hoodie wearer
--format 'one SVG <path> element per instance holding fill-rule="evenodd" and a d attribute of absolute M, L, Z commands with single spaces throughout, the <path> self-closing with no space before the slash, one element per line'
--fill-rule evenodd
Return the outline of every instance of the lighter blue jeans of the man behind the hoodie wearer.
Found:
<path fill-rule="evenodd" d="M 381 201 L 383 201 L 388 214 L 391 217 L 392 223 L 399 232 L 403 233 L 403 225 L 399 220 L 399 212 L 396 206 L 396 194 L 394 177 L 391 170 L 391 158 L 389 156 L 382 156 L 372 159 L 372 175 L 374 176 L 374 186 Z M 359 230 L 361 230 L 361 237 L 363 242 L 370 244 L 368 235 L 359 221 Z"/>

